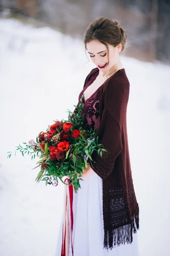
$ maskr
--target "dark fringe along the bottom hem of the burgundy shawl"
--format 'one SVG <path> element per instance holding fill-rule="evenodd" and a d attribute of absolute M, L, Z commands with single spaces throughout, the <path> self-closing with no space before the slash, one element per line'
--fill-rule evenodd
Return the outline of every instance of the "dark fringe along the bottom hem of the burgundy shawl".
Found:
<path fill-rule="evenodd" d="M 133 241 L 132 232 L 139 230 L 139 212 L 133 215 L 133 222 L 113 230 L 105 230 L 103 245 L 105 249 L 113 249 L 116 245 L 131 244 Z"/>

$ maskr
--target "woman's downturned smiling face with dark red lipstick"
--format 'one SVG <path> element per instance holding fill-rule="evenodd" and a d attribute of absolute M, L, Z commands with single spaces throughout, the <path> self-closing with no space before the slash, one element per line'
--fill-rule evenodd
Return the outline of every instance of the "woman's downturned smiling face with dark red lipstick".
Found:
<path fill-rule="evenodd" d="M 107 72 L 119 61 L 119 52 L 122 49 L 122 44 L 114 47 L 108 44 L 108 49 L 105 44 L 102 44 L 98 40 L 92 40 L 86 44 L 91 61 L 99 68 L 101 72 Z M 101 66 L 104 65 L 102 68 Z"/>

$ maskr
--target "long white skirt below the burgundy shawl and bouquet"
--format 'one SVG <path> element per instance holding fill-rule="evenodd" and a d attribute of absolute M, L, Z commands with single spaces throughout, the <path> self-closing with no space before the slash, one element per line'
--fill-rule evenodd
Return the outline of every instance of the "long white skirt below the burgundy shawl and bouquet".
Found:
<path fill-rule="evenodd" d="M 133 233 L 131 244 L 121 244 L 112 250 L 103 248 L 102 179 L 94 172 L 79 183 L 81 189 L 73 191 L 74 256 L 139 256 L 137 233 Z M 62 220 L 55 256 L 61 255 Z"/>

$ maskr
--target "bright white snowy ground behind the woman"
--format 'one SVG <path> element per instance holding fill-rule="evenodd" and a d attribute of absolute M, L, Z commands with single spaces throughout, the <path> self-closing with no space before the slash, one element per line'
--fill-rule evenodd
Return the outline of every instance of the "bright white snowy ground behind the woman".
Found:
<path fill-rule="evenodd" d="M 127 131 L 140 256 L 168 256 L 170 67 L 121 56 L 130 81 Z M 38 159 L 15 151 L 74 110 L 94 68 L 82 41 L 48 27 L 0 19 L 0 255 L 55 256 L 63 184 L 37 184 Z M 20 154 L 19 154 L 20 153 Z"/>

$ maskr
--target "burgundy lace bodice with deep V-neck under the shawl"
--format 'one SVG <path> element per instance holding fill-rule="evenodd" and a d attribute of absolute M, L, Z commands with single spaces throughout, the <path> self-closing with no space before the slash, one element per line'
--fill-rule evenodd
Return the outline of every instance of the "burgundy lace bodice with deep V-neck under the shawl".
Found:
<path fill-rule="evenodd" d="M 84 91 L 87 89 L 88 86 L 90 86 L 93 81 L 96 79 L 98 76 L 98 72 L 95 72 L 91 79 L 88 81 L 88 83 L 85 85 L 83 90 L 79 94 L 79 104 L 80 104 L 80 99 L 82 97 L 82 94 Z M 83 113 L 85 114 L 84 116 L 84 122 L 83 122 L 83 128 L 87 128 L 90 126 L 91 128 L 99 128 L 99 92 L 100 92 L 100 87 L 88 98 L 83 100 L 84 103 L 84 108 L 83 108 Z"/>

